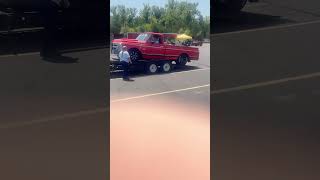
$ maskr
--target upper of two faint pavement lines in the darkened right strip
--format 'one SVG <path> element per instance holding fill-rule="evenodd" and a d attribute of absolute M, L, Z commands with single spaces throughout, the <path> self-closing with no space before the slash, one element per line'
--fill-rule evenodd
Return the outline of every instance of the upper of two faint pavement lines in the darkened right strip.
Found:
<path fill-rule="evenodd" d="M 320 20 L 302 22 L 302 23 L 294 23 L 294 24 L 288 24 L 288 25 L 278 25 L 278 26 L 271 26 L 271 27 L 264 27 L 264 28 L 254 28 L 254 29 L 247 29 L 247 30 L 233 31 L 233 32 L 226 32 L 226 33 L 211 34 L 211 37 L 215 38 L 215 37 L 222 37 L 222 36 L 240 34 L 240 33 L 267 31 L 267 30 L 275 30 L 275 29 L 285 29 L 285 28 L 292 28 L 292 27 L 298 27 L 298 26 L 304 26 L 304 25 L 312 25 L 312 24 L 318 24 L 318 23 L 320 23 Z"/>

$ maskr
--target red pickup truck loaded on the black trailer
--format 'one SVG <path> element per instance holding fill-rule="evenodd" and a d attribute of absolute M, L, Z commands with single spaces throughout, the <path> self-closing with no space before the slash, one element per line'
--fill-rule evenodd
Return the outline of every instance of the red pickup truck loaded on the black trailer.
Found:
<path fill-rule="evenodd" d="M 133 62 L 149 62 L 149 68 L 153 66 L 149 72 L 156 71 L 159 66 L 162 71 L 170 71 L 172 62 L 184 66 L 191 60 L 198 60 L 199 49 L 175 44 L 173 39 L 176 36 L 176 34 L 147 32 L 139 34 L 135 39 L 114 39 L 111 46 L 111 60 L 118 60 L 121 46 L 127 46 Z"/>

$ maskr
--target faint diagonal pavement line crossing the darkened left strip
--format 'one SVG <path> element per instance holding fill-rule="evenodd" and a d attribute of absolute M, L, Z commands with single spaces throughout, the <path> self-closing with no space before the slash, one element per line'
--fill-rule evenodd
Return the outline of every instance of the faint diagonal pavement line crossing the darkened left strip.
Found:
<path fill-rule="evenodd" d="M 24 127 L 24 126 L 34 125 L 34 124 L 42 124 L 42 123 L 47 123 L 47 122 L 51 122 L 51 121 L 59 121 L 59 120 L 67 119 L 67 118 L 77 118 L 80 116 L 88 116 L 88 115 L 93 115 L 93 114 L 97 114 L 97 113 L 104 113 L 104 112 L 107 112 L 107 108 L 97 108 L 94 110 L 79 111 L 76 113 L 68 113 L 68 114 L 63 114 L 63 115 L 59 115 L 59 116 L 36 119 L 36 120 L 32 120 L 32 121 L 27 121 L 27 122 L 9 123 L 9 124 L 5 124 L 5 125 L 0 125 L 0 129 L 18 128 L 18 127 Z"/>

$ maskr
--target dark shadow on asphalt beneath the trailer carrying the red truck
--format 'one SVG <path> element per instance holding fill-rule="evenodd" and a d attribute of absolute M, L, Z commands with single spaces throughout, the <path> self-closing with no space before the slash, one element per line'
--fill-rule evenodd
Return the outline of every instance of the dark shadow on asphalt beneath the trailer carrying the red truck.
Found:
<path fill-rule="evenodd" d="M 174 67 L 174 69 L 170 73 L 187 72 L 187 71 L 196 70 L 196 69 L 201 69 L 201 68 L 196 66 Z M 150 74 L 146 74 L 145 71 L 142 69 L 131 69 L 129 75 L 131 78 L 138 78 L 138 77 L 144 77 L 144 76 L 157 76 L 157 75 L 170 74 L 170 73 L 158 72 L 156 74 L 150 75 Z M 116 78 L 122 78 L 122 70 L 110 72 L 110 79 L 116 79 Z"/>

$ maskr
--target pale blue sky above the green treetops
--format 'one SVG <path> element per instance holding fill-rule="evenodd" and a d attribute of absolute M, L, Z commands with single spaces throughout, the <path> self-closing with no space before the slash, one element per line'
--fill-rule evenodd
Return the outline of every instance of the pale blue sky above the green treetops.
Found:
<path fill-rule="evenodd" d="M 192 3 L 199 3 L 198 10 L 203 16 L 210 16 L 210 0 L 181 0 Z M 110 5 L 125 5 L 126 7 L 137 8 L 140 10 L 144 4 L 162 6 L 167 3 L 167 0 L 110 0 Z"/>

